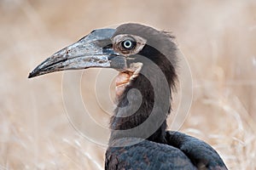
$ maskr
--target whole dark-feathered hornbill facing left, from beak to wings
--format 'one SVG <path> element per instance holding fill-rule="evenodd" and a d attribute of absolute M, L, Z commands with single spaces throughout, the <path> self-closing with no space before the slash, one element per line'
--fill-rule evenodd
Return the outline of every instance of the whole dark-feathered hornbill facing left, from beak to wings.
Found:
<path fill-rule="evenodd" d="M 166 131 L 176 53 L 168 33 L 130 23 L 92 31 L 46 59 L 29 77 L 90 67 L 119 71 L 105 169 L 227 169 L 209 144 Z"/>

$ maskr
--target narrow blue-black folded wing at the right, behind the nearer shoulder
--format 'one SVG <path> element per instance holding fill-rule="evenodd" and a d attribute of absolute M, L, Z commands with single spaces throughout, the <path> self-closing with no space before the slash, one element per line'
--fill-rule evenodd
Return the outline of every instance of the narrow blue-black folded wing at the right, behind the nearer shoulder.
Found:
<path fill-rule="evenodd" d="M 228 169 L 224 161 L 218 156 L 217 151 L 200 139 L 184 133 L 167 131 L 166 140 L 168 144 L 183 151 L 189 157 L 189 160 L 199 169 Z"/>

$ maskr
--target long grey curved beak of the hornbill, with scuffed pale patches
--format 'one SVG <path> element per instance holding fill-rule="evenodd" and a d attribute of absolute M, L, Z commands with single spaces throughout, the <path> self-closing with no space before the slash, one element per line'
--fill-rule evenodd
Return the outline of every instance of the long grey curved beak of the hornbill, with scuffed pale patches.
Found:
<path fill-rule="evenodd" d="M 28 78 L 38 77 L 50 72 L 79 70 L 90 67 L 105 67 L 123 70 L 125 57 L 113 51 L 111 37 L 115 29 L 99 29 L 67 48 L 53 54 L 38 65 Z"/>

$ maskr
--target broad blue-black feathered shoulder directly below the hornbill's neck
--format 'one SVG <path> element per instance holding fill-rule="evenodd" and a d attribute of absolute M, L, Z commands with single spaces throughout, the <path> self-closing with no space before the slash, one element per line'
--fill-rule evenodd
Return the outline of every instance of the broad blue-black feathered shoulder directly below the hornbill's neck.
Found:
<path fill-rule="evenodd" d="M 109 147 L 106 152 L 106 170 L 119 169 L 197 169 L 181 150 L 167 144 L 143 140 L 124 147 Z"/>

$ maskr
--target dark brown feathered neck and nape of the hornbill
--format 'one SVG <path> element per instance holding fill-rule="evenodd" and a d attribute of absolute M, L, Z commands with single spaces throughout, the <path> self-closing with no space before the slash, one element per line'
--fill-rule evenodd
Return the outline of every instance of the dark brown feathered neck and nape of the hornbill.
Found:
<path fill-rule="evenodd" d="M 177 75 L 171 61 L 156 49 L 146 46 L 140 56 L 149 54 L 153 55 L 136 58 L 143 68 L 118 99 L 110 122 L 110 141 L 132 137 L 166 142 L 166 117 L 171 110 L 171 88 Z"/>

